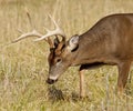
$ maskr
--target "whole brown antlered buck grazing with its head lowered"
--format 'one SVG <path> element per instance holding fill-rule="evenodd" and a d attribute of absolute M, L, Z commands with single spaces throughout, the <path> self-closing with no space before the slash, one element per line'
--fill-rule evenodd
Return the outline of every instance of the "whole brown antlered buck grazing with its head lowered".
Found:
<path fill-rule="evenodd" d="M 50 17 L 51 18 L 51 17 Z M 47 82 L 52 84 L 72 65 L 81 65 L 80 95 L 85 95 L 85 69 L 98 65 L 117 65 L 117 91 L 124 92 L 131 62 L 133 60 L 133 13 L 111 14 L 98 21 L 83 34 L 75 34 L 66 41 L 64 32 L 53 18 L 55 30 L 41 34 L 37 30 L 21 34 L 13 42 L 29 37 L 38 37 L 34 41 L 45 40 L 50 44 L 49 77 Z M 54 36 L 54 40 L 49 37 Z M 62 39 L 59 39 L 62 38 Z"/>

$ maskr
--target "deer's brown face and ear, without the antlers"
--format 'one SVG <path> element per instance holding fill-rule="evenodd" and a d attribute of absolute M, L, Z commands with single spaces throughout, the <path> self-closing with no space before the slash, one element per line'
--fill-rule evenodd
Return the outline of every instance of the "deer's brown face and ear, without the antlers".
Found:
<path fill-rule="evenodd" d="M 54 83 L 58 78 L 72 64 L 75 58 L 79 36 L 73 36 L 69 41 L 54 40 L 54 48 L 50 49 L 48 83 Z"/>

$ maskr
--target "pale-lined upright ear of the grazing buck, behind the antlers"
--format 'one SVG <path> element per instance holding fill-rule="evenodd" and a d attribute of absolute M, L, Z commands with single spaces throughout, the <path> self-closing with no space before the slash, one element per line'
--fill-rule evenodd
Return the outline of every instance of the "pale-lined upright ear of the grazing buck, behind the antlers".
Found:
<path fill-rule="evenodd" d="M 71 50 L 71 51 L 74 51 L 79 46 L 79 36 L 75 34 L 73 36 L 70 40 L 69 40 L 69 46 L 68 48 Z"/>

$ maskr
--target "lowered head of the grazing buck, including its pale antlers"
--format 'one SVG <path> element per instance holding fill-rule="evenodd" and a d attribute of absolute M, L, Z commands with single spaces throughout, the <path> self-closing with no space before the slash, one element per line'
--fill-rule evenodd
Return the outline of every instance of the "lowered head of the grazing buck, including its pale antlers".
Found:
<path fill-rule="evenodd" d="M 45 28 L 48 33 L 44 36 L 39 33 L 37 30 L 22 33 L 18 39 L 12 41 L 12 43 L 29 37 L 38 37 L 34 41 L 45 40 L 50 44 L 50 54 L 48 57 L 49 77 L 47 82 L 52 84 L 72 64 L 72 61 L 76 56 L 73 52 L 75 52 L 79 47 L 79 36 L 73 36 L 66 41 L 64 32 L 60 29 L 54 19 L 51 18 L 51 16 L 49 17 L 55 26 L 54 30 L 50 31 Z M 51 36 L 55 37 L 53 41 L 49 38 Z M 62 38 L 61 40 L 59 39 L 60 37 Z"/>

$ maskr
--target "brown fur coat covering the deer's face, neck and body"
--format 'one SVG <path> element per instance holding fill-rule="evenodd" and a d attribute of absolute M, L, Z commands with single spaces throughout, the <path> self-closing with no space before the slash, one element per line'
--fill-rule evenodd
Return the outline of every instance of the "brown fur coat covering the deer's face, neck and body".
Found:
<path fill-rule="evenodd" d="M 133 60 L 132 13 L 113 14 L 101 19 L 89 31 L 79 36 L 78 47 L 73 51 L 69 50 L 69 41 L 63 48 L 53 48 L 51 51 L 49 78 L 63 73 L 71 65 L 81 65 L 81 73 L 82 70 L 99 64 L 115 64 L 119 68 L 117 89 L 123 92 Z"/>

